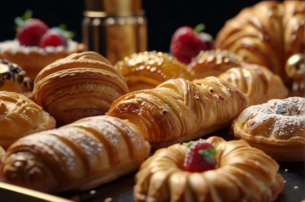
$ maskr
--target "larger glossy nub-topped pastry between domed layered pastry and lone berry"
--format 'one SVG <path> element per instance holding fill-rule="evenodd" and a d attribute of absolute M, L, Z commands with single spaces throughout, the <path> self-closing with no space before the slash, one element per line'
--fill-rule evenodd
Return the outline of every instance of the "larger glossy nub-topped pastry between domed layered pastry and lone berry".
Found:
<path fill-rule="evenodd" d="M 114 68 L 125 78 L 131 92 L 155 88 L 173 78 L 193 80 L 188 66 L 162 52 L 140 52 L 124 57 Z"/>

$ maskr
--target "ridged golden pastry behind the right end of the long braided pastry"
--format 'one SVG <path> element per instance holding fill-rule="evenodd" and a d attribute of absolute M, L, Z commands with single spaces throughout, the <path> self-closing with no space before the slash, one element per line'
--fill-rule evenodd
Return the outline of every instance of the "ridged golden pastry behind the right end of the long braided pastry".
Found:
<path fill-rule="evenodd" d="M 247 94 L 248 106 L 275 98 L 284 99 L 289 93 L 282 78 L 261 65 L 243 63 L 241 67 L 230 68 L 218 78 Z"/>

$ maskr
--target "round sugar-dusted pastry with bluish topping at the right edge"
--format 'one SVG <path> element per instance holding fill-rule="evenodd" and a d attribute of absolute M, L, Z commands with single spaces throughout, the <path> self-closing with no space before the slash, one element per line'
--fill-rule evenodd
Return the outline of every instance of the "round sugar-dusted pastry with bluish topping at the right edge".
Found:
<path fill-rule="evenodd" d="M 248 107 L 233 121 L 232 133 L 277 161 L 302 161 L 305 98 L 272 99 Z"/>

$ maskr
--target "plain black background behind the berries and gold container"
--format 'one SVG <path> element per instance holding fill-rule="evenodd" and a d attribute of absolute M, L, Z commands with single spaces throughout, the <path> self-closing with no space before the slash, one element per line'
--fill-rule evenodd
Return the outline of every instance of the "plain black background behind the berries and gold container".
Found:
<path fill-rule="evenodd" d="M 260 0 L 143 0 L 148 19 L 148 49 L 168 52 L 173 32 L 180 26 L 206 24 L 206 32 L 213 37 L 227 19 Z M 27 9 L 33 17 L 45 21 L 49 27 L 67 24 L 81 41 L 83 0 L 0 0 L 0 41 L 15 37 L 14 18 Z"/>

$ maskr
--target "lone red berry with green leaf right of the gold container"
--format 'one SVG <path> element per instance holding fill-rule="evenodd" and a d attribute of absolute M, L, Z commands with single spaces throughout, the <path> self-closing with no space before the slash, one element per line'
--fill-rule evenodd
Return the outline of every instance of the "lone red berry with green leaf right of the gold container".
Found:
<path fill-rule="evenodd" d="M 202 32 L 204 28 L 204 24 L 199 24 L 195 28 L 179 27 L 172 35 L 171 54 L 181 62 L 189 64 L 191 58 L 198 55 L 201 50 L 213 49 L 213 37 Z"/>

